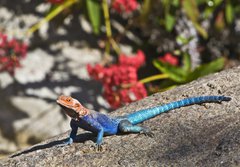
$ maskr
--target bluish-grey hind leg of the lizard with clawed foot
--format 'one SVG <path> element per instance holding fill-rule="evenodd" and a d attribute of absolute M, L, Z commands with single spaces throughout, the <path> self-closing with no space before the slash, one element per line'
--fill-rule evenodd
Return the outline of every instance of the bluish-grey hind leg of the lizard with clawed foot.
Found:
<path fill-rule="evenodd" d="M 119 123 L 119 130 L 124 133 L 140 133 L 150 137 L 154 136 L 149 128 L 133 125 L 128 120 Z"/>

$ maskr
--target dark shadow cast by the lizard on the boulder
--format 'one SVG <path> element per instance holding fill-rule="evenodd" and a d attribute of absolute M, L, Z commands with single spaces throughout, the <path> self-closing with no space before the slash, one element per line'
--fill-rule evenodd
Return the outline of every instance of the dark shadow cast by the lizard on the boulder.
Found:
<path fill-rule="evenodd" d="M 61 140 L 54 140 L 54 141 L 51 141 L 51 142 L 46 143 L 46 144 L 38 144 L 38 145 L 35 145 L 35 146 L 33 146 L 29 149 L 20 151 L 19 153 L 15 153 L 15 154 L 11 155 L 9 158 L 14 158 L 14 157 L 17 157 L 17 156 L 20 156 L 20 155 L 23 155 L 23 154 L 28 154 L 28 153 L 31 153 L 31 152 L 34 152 L 34 151 L 43 150 L 43 149 L 51 148 L 51 147 L 54 147 L 54 146 L 58 146 L 58 145 L 62 144 L 63 142 L 65 142 L 66 140 L 67 140 L 67 138 L 64 138 L 64 139 L 61 139 Z M 76 139 L 74 140 L 74 143 L 84 143 L 87 140 L 94 141 L 94 134 L 92 134 L 92 133 L 79 134 L 79 135 L 76 136 Z"/>

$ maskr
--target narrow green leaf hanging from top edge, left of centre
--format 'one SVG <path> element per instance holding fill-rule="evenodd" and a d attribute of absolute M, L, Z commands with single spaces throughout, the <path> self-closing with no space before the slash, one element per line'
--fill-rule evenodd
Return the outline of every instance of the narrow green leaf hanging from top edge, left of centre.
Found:
<path fill-rule="evenodd" d="M 96 0 L 87 0 L 87 11 L 89 20 L 93 27 L 93 32 L 99 34 L 101 22 L 101 5 Z"/>

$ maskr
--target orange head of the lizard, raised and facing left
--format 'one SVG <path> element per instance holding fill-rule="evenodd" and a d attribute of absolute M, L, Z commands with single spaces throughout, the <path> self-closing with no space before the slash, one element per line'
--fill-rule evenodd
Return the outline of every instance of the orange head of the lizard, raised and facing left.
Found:
<path fill-rule="evenodd" d="M 58 97 L 57 103 L 63 108 L 68 116 L 76 120 L 87 115 L 89 112 L 77 99 L 71 96 L 61 95 Z"/>

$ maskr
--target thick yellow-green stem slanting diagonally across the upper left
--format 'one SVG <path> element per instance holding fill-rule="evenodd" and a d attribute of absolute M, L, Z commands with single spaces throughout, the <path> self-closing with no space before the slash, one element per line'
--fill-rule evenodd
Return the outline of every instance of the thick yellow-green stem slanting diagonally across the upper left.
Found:
<path fill-rule="evenodd" d="M 45 18 L 43 18 L 41 21 L 39 21 L 37 24 L 33 25 L 31 28 L 29 28 L 26 32 L 27 35 L 34 33 L 36 30 L 39 29 L 44 23 L 49 22 L 52 20 L 56 15 L 58 15 L 60 12 L 62 12 L 64 9 L 70 7 L 74 3 L 78 2 L 78 0 L 67 0 L 64 3 L 60 4 L 58 7 L 56 7 L 52 12 L 50 12 Z"/>

